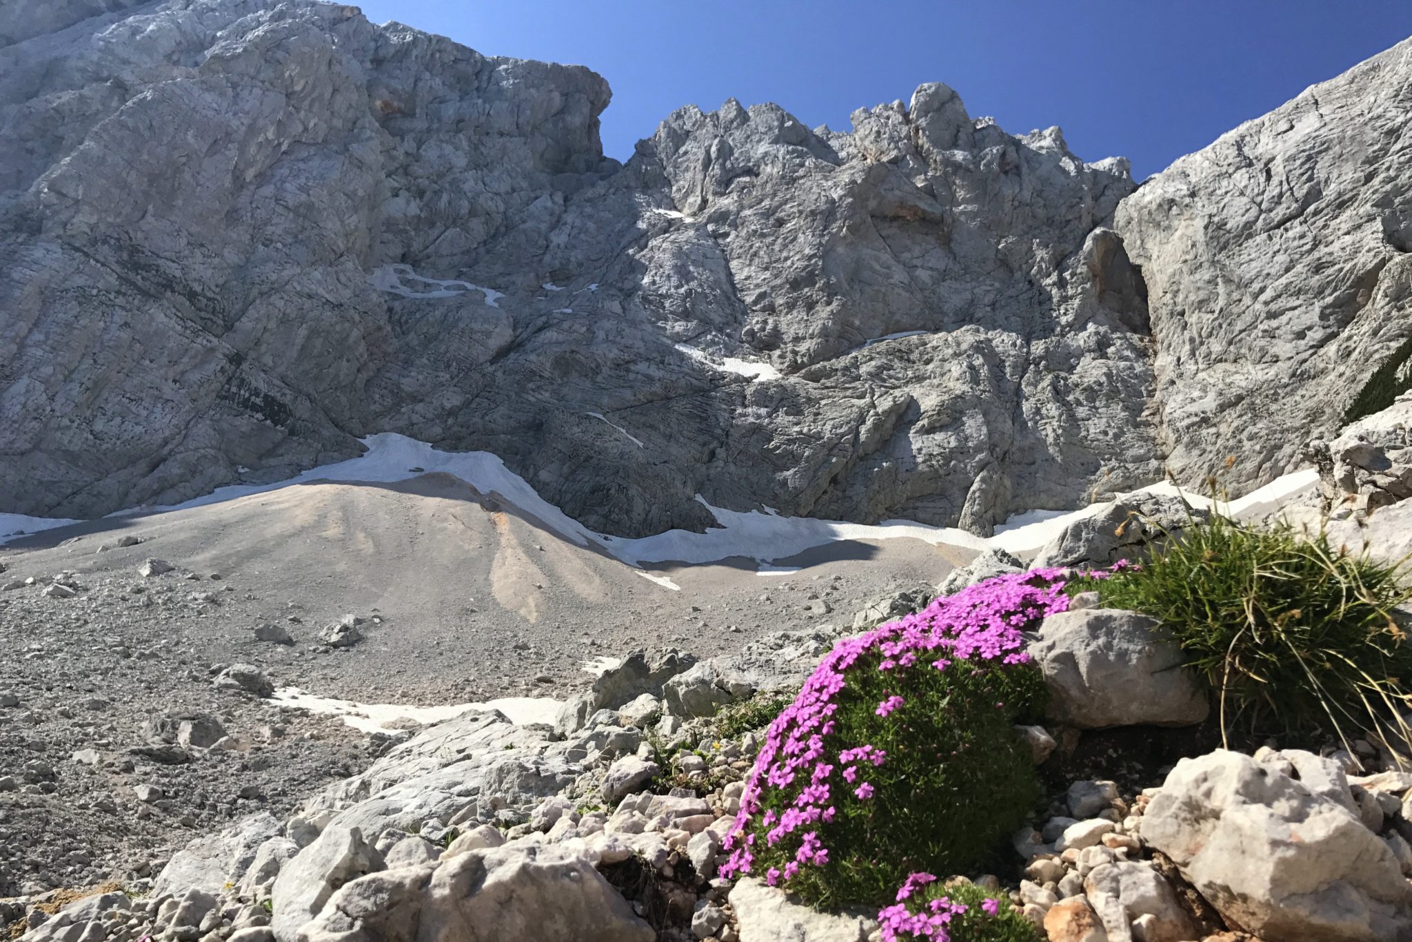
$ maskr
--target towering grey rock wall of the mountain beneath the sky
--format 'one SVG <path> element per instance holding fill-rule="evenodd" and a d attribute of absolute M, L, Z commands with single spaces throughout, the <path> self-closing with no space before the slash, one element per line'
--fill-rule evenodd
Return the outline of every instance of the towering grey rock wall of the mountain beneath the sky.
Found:
<path fill-rule="evenodd" d="M 593 72 L 354 7 L 0 20 L 11 511 L 397 431 L 603 532 L 699 530 L 696 494 L 988 532 L 1165 463 L 1289 470 L 1408 332 L 1409 44 L 1137 188 L 943 85 L 850 134 L 686 107 L 620 165 Z"/>

